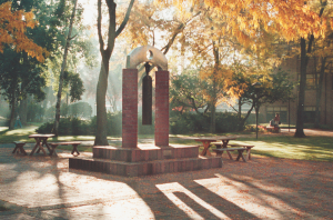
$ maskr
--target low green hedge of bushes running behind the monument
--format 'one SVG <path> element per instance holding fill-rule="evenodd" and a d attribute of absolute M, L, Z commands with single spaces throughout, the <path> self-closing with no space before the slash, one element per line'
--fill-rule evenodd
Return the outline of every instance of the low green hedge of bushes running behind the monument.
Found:
<path fill-rule="evenodd" d="M 122 113 L 108 112 L 107 114 L 108 136 L 121 136 L 122 133 Z M 238 130 L 238 116 L 235 113 L 216 112 L 216 132 L 232 132 Z M 154 134 L 154 117 L 151 126 L 142 126 L 142 118 L 138 120 L 139 134 Z M 53 122 L 42 124 L 37 129 L 39 133 L 52 132 Z M 95 134 L 97 117 L 91 120 L 80 118 L 61 118 L 59 122 L 59 134 L 61 136 L 93 136 Z M 210 114 L 198 114 L 193 112 L 170 112 L 170 133 L 185 134 L 193 132 L 210 131 Z"/>

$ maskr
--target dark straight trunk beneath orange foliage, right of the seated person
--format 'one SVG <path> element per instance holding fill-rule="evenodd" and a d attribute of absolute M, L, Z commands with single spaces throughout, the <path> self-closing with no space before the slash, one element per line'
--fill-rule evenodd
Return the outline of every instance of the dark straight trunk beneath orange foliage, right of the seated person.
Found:
<path fill-rule="evenodd" d="M 309 43 L 311 43 L 311 42 L 309 42 Z M 297 138 L 305 137 L 304 131 L 303 131 L 303 129 L 304 129 L 303 120 L 304 120 L 304 100 L 305 100 L 305 87 L 306 87 L 306 68 L 307 68 L 306 44 L 305 44 L 305 39 L 301 38 L 301 72 L 300 72 L 301 79 L 300 79 L 300 91 L 299 91 L 296 132 L 294 134 Z"/>

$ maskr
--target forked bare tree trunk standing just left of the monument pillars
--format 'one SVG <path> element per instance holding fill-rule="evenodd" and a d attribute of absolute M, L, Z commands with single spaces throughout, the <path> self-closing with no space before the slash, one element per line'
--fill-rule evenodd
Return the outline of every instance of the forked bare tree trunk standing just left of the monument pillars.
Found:
<path fill-rule="evenodd" d="M 115 38 L 124 29 L 134 0 L 131 0 L 124 20 L 120 27 L 115 30 L 115 2 L 113 0 L 105 0 L 109 13 L 109 26 L 108 26 L 108 41 L 104 44 L 102 34 L 102 1 L 98 0 L 98 36 L 100 43 L 100 52 L 102 56 L 101 70 L 99 74 L 99 81 L 97 87 L 97 134 L 94 139 L 94 146 L 109 146 L 107 139 L 107 109 L 105 109 L 105 94 L 108 89 L 108 77 L 109 77 L 109 60 L 111 58 Z M 107 48 L 105 48 L 107 47 Z"/>

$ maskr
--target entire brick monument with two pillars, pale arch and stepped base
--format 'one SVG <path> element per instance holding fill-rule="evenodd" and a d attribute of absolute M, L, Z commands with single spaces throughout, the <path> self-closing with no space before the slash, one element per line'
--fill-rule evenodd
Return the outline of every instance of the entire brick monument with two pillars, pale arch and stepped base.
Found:
<path fill-rule="evenodd" d="M 149 56 L 147 56 L 149 54 Z M 138 144 L 138 69 L 149 62 L 155 72 L 154 144 Z M 220 157 L 199 156 L 199 146 L 169 146 L 169 71 L 164 54 L 151 46 L 134 49 L 122 78 L 122 146 L 95 146 L 92 158 L 70 158 L 70 169 L 138 177 L 221 168 Z"/>

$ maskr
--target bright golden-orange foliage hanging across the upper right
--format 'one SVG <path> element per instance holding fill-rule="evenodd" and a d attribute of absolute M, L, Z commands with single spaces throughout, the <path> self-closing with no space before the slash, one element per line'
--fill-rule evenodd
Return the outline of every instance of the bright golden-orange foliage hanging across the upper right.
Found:
<path fill-rule="evenodd" d="M 194 0 L 176 2 L 176 7 L 183 6 L 184 2 L 192 3 L 192 6 L 198 3 Z M 238 40 L 244 44 L 250 42 L 249 39 L 255 43 L 251 38 L 255 38 L 254 32 L 260 31 L 261 28 L 279 33 L 287 41 L 304 38 L 309 33 L 319 37 L 327 28 L 321 21 L 319 11 L 322 6 L 309 1 L 304 3 L 303 0 L 203 0 L 203 2 L 205 8 L 222 12 L 229 29 L 233 30 Z"/>

